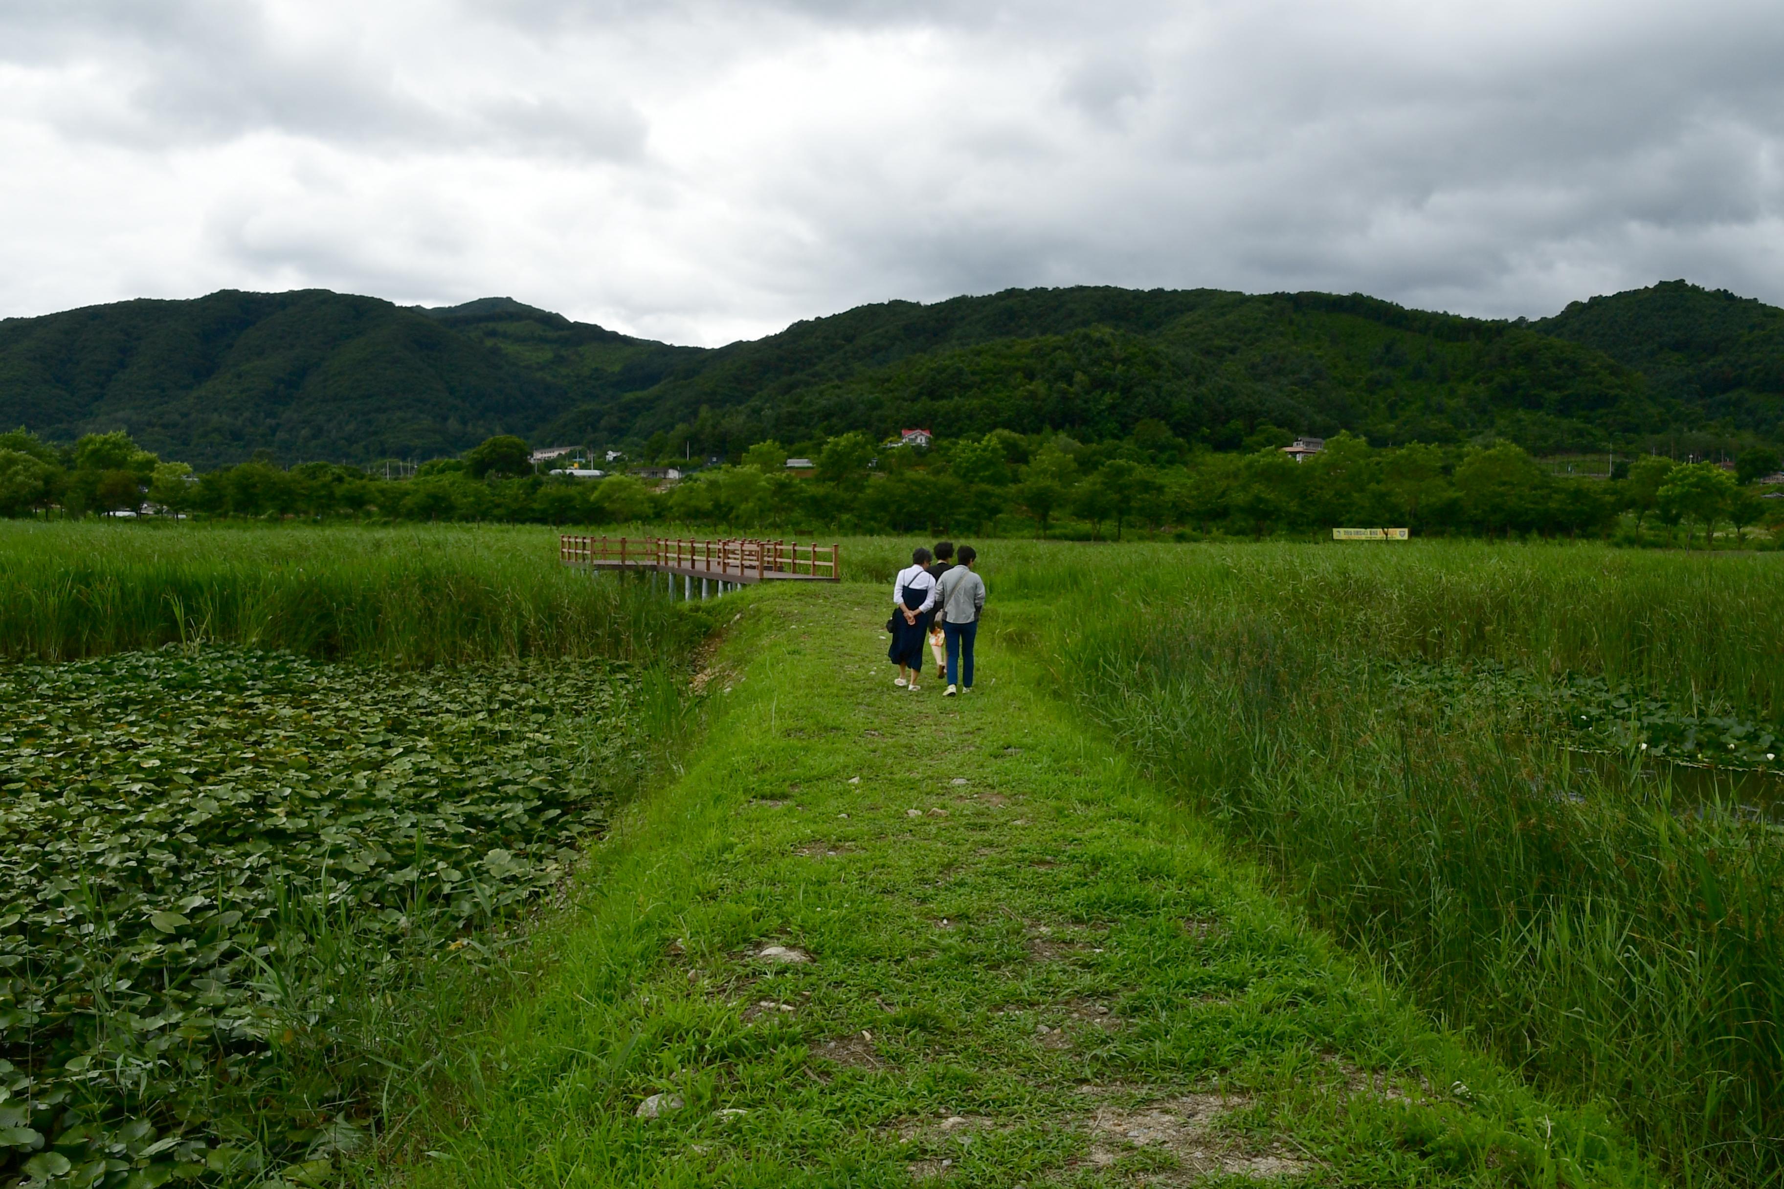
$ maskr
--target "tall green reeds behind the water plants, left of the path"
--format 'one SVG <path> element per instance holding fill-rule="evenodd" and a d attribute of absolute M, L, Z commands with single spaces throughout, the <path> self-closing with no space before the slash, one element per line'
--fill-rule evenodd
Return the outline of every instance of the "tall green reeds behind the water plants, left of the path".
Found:
<path fill-rule="evenodd" d="M 651 663 L 705 629 L 640 583 L 566 570 L 541 528 L 0 522 L 9 658 L 225 642 L 400 667 Z"/>

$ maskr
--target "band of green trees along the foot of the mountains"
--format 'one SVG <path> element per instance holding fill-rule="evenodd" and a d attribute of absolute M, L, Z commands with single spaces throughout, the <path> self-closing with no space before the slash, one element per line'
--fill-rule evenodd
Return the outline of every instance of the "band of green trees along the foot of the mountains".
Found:
<path fill-rule="evenodd" d="M 789 449 L 756 442 L 740 456 L 653 483 L 541 474 L 526 442 L 494 437 L 407 478 L 360 467 L 257 458 L 194 474 L 125 433 L 73 446 L 23 430 L 0 435 L 0 513 L 166 513 L 207 519 L 501 521 L 537 524 L 681 522 L 714 531 L 935 531 L 1120 538 L 1308 535 L 1395 526 L 1416 535 L 1607 537 L 1684 544 L 1738 538 L 1784 519 L 1764 501 L 1779 456 L 1754 449 L 1730 472 L 1641 456 L 1611 480 L 1557 476 L 1513 442 L 1372 447 L 1338 435 L 1295 462 L 1276 444 L 1199 449 L 1158 421 L 1120 440 L 994 430 L 931 449 L 881 446 L 851 431 Z M 549 465 L 549 463 L 546 463 Z"/>

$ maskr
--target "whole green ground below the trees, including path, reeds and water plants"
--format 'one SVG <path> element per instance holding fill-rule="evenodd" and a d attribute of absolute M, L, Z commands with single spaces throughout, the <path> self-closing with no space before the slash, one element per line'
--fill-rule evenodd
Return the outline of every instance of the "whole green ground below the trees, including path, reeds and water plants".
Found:
<path fill-rule="evenodd" d="M 0 526 L 0 1175 L 1784 1178 L 1772 554 L 912 544 Z"/>

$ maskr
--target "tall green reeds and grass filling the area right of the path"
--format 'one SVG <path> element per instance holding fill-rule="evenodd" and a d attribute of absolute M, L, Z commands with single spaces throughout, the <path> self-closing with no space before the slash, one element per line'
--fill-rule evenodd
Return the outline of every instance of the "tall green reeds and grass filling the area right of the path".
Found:
<path fill-rule="evenodd" d="M 1003 592 L 1058 610 L 1035 644 L 1088 718 L 1416 1002 L 1615 1103 L 1681 1184 L 1761 1185 L 1784 1180 L 1784 834 L 1641 745 L 1784 752 L 1780 578 L 1598 547 L 1127 547 L 1019 551 Z M 1506 697 L 1566 674 L 1604 679 L 1602 722 Z"/>

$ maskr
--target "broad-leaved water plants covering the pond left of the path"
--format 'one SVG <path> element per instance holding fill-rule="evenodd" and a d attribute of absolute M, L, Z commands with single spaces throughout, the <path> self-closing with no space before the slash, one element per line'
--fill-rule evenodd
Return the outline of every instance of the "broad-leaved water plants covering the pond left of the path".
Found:
<path fill-rule="evenodd" d="M 321 1177 L 376 1021 L 564 879 L 642 765 L 608 663 L 0 667 L 0 1178 Z"/>

